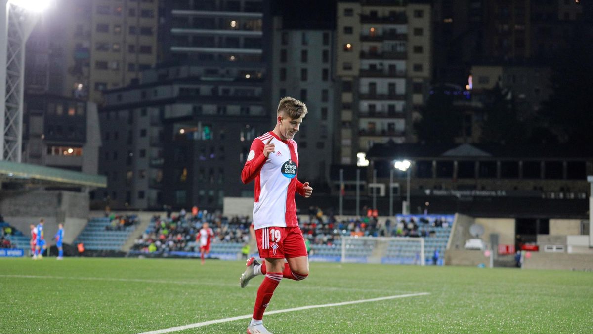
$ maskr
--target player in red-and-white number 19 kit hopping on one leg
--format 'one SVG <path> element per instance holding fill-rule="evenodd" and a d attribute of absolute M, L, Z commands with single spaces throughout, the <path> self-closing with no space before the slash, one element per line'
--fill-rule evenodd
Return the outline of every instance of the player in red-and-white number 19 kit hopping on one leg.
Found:
<path fill-rule="evenodd" d="M 255 183 L 253 224 L 257 248 L 264 263 L 253 257 L 241 275 L 241 288 L 256 275 L 266 275 L 257 290 L 253 318 L 248 334 L 270 333 L 263 326 L 263 313 L 282 278 L 299 281 L 309 275 L 307 248 L 297 221 L 295 193 L 304 197 L 313 194 L 309 182 L 297 178 L 299 163 L 295 134 L 307 115 L 305 103 L 292 97 L 280 100 L 274 130 L 251 143 L 241 181 Z M 288 263 L 284 263 L 284 259 Z"/>

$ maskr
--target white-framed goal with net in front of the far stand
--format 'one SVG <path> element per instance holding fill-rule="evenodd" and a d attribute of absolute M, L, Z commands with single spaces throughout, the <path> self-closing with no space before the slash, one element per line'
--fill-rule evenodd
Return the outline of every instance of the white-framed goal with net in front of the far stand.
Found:
<path fill-rule="evenodd" d="M 424 238 L 342 237 L 340 261 L 424 266 Z"/>

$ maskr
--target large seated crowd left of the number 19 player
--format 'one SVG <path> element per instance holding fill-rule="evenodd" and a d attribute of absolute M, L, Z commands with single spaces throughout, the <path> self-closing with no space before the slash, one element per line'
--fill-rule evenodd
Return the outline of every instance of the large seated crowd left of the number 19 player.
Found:
<path fill-rule="evenodd" d="M 199 251 L 196 243 L 202 224 L 207 222 L 214 231 L 212 243 L 235 242 L 246 244 L 250 239 L 247 216 L 227 218 L 219 212 L 209 213 L 199 210 L 187 213 L 181 210 L 178 215 L 171 213 L 168 217 L 154 216 L 142 235 L 136 239 L 132 250 L 145 253 L 170 251 Z"/>

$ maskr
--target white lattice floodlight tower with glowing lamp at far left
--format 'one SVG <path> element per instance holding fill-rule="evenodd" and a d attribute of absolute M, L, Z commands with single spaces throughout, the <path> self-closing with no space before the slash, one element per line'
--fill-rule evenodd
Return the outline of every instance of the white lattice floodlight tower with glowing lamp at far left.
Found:
<path fill-rule="evenodd" d="M 0 160 L 21 162 L 25 43 L 50 0 L 0 0 Z"/>

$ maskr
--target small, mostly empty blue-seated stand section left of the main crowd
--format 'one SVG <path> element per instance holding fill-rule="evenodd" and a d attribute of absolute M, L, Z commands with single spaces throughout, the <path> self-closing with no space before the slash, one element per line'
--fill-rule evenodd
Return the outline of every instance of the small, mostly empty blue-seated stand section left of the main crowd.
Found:
<path fill-rule="evenodd" d="M 74 244 L 82 243 L 88 250 L 119 251 L 137 223 L 135 215 L 91 218 Z"/>

